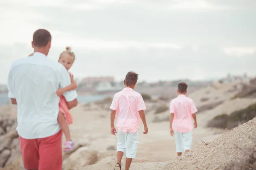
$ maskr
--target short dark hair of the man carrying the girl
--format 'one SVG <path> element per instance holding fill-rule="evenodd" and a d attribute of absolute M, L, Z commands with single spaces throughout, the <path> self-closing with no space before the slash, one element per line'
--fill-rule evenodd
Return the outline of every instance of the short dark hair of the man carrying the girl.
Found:
<path fill-rule="evenodd" d="M 51 40 L 51 34 L 45 29 L 38 29 L 33 34 L 33 43 L 35 47 L 45 47 Z"/>

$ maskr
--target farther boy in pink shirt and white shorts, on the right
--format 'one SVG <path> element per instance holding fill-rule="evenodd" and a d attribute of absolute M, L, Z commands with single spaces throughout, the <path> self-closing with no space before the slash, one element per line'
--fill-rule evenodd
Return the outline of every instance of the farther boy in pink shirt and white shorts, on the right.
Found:
<path fill-rule="evenodd" d="M 175 145 L 177 155 L 185 151 L 185 153 L 191 150 L 192 145 L 192 130 L 193 120 L 194 127 L 197 127 L 196 115 L 198 111 L 195 107 L 195 103 L 189 97 L 186 97 L 188 85 L 185 82 L 178 84 L 177 93 L 178 97 L 172 99 L 170 105 L 170 133 L 175 136 Z"/>

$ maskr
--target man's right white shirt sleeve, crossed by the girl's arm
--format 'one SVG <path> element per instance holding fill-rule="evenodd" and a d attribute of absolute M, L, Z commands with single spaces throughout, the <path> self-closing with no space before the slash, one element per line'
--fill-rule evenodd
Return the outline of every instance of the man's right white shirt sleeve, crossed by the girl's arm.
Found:
<path fill-rule="evenodd" d="M 64 88 L 69 85 L 71 85 L 70 74 L 67 72 L 67 70 L 66 70 L 66 68 L 64 68 L 64 66 L 61 66 L 59 88 Z M 66 92 L 64 92 L 63 96 L 65 97 L 67 102 L 71 102 L 76 99 L 77 93 L 75 90 L 66 91 Z"/>

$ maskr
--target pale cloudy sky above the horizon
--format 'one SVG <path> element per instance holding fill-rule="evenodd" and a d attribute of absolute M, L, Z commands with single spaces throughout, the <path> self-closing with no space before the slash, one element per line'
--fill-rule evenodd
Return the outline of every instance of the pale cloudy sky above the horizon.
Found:
<path fill-rule="evenodd" d="M 32 53 L 39 28 L 52 34 L 56 62 L 72 47 L 76 78 L 256 76 L 255 8 L 255 0 L 0 0 L 0 83 Z"/>

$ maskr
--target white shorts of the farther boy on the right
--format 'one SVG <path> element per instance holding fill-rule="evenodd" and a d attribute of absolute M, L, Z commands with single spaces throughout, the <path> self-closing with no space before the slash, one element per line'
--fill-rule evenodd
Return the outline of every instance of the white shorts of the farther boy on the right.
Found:
<path fill-rule="evenodd" d="M 174 131 L 176 152 L 184 152 L 185 150 L 191 150 L 192 145 L 192 131 L 186 133 L 180 133 Z"/>

